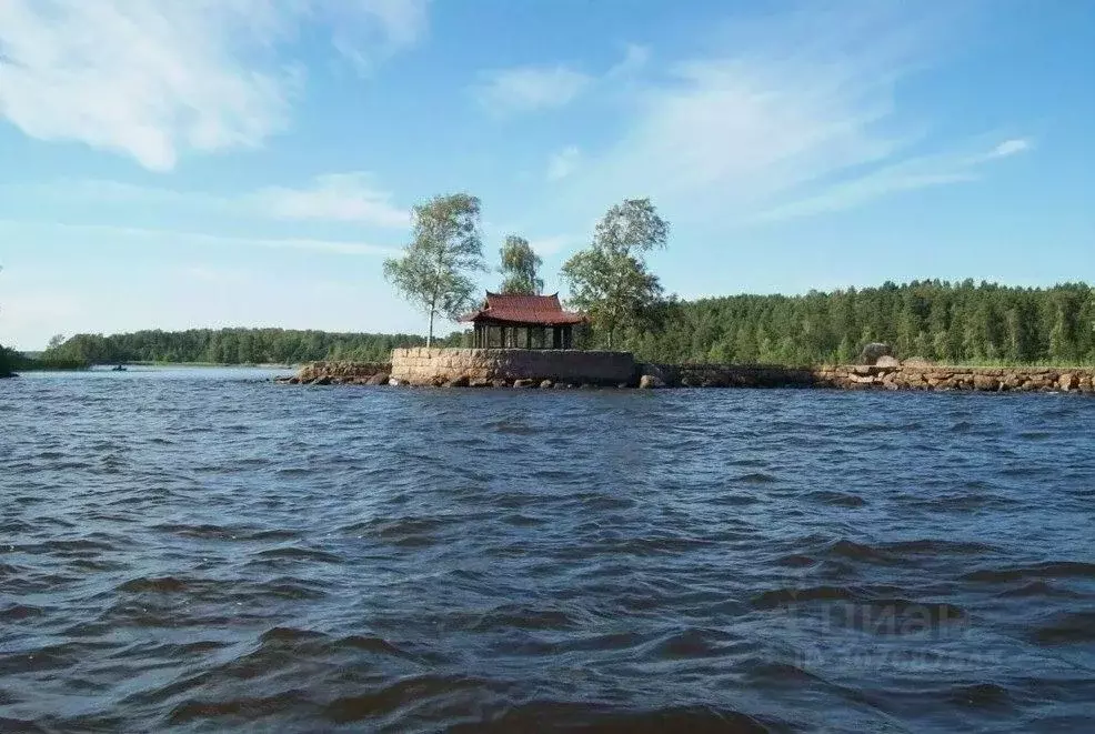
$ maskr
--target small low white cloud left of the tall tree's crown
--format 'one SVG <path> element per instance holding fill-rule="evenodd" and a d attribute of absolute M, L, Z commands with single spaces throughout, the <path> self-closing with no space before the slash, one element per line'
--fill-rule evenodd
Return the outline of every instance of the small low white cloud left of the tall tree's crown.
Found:
<path fill-rule="evenodd" d="M 272 187 L 251 197 L 257 212 L 281 219 L 361 222 L 378 227 L 405 228 L 411 223 L 405 209 L 394 207 L 391 194 L 375 189 L 368 174 L 336 173 L 315 179 L 311 187 Z"/>

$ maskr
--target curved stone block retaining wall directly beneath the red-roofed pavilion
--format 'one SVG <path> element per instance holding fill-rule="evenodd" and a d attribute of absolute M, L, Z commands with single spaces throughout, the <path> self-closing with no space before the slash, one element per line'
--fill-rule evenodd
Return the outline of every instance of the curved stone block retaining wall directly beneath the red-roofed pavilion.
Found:
<path fill-rule="evenodd" d="M 620 385 L 635 379 L 630 352 L 531 349 L 392 351 L 392 381 L 410 385 L 493 385 L 516 381 Z"/>

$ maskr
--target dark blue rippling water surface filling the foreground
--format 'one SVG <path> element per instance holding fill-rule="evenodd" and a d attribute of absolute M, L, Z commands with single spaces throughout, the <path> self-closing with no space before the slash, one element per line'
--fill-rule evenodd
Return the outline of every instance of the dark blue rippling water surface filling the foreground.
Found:
<path fill-rule="evenodd" d="M 1095 401 L 0 382 L 0 730 L 1095 731 Z"/>

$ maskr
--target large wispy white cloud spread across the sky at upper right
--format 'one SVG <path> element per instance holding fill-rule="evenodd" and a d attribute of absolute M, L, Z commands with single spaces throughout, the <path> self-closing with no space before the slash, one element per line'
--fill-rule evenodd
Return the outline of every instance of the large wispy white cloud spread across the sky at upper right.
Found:
<path fill-rule="evenodd" d="M 671 218 L 745 222 L 973 178 L 976 162 L 941 154 L 938 142 L 932 150 L 928 125 L 894 103 L 896 84 L 935 51 L 938 19 L 907 12 L 878 3 L 850 17 L 808 6 L 733 28 L 721 52 L 672 64 L 640 88 L 624 133 L 586 153 L 559 207 L 586 215 L 650 195 Z M 1006 141 L 992 157 L 1027 147 Z"/>

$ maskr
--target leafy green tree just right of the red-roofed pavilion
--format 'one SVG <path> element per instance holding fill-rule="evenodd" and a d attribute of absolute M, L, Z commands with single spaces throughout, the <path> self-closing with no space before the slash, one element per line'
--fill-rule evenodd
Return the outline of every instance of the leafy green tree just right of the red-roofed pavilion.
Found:
<path fill-rule="evenodd" d="M 597 223 L 593 244 L 563 265 L 570 304 L 590 315 L 594 334 L 603 334 L 609 349 L 621 330 L 651 323 L 662 286 L 644 255 L 664 248 L 667 237 L 669 223 L 650 199 L 627 199 Z"/>

